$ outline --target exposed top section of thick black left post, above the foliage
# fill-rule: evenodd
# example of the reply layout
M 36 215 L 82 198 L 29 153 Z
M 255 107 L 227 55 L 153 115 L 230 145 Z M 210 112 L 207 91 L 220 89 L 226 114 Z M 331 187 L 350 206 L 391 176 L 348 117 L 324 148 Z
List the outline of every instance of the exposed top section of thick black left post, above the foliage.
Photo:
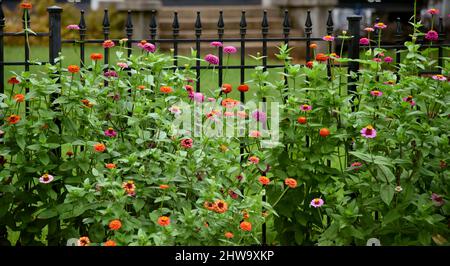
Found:
M 47 8 L 49 15 L 49 61 L 50 64 L 55 64 L 55 59 L 61 52 L 61 12 L 62 8 L 59 6 L 51 6 Z

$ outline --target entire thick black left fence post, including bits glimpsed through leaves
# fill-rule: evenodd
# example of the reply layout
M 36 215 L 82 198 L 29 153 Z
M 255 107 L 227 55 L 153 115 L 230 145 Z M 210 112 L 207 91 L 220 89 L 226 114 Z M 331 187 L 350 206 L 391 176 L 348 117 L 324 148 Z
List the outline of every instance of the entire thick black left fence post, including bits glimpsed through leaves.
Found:
M 61 52 L 61 12 L 62 8 L 58 6 L 51 6 L 47 8 L 49 15 L 49 62 L 50 64 L 56 64 L 56 58 L 59 57 Z M 58 81 L 59 82 L 59 81 Z M 52 101 L 56 95 L 52 95 Z M 55 120 L 55 124 L 58 126 L 60 134 L 62 134 L 61 121 Z M 61 158 L 61 148 L 56 148 L 52 151 L 56 158 Z M 54 186 L 53 189 L 57 194 L 61 190 L 60 186 Z M 47 241 L 49 246 L 59 246 L 61 237 L 61 224 L 56 220 L 52 220 L 48 225 Z

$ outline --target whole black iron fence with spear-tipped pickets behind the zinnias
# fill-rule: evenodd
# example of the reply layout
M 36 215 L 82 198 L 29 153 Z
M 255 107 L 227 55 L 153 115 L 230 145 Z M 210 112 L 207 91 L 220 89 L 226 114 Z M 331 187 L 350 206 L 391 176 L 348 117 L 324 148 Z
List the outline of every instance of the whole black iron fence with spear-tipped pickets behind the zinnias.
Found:
M 10 37 L 17 37 L 17 38 L 42 38 L 42 37 L 48 37 L 48 51 L 49 51 L 49 59 L 48 62 L 39 62 L 40 64 L 50 63 L 55 64 L 56 58 L 59 56 L 61 52 L 61 48 L 63 44 L 78 44 L 80 47 L 80 65 L 84 65 L 85 63 L 85 52 L 86 52 L 86 45 L 87 44 L 101 44 L 105 40 L 110 39 L 110 19 L 108 10 L 106 9 L 103 14 L 103 39 L 89 39 L 86 38 L 87 36 L 87 25 L 85 22 L 84 17 L 84 11 L 80 12 L 80 22 L 78 24 L 79 26 L 79 36 L 78 39 L 66 39 L 63 40 L 61 36 L 61 15 L 63 13 L 63 9 L 57 6 L 52 6 L 48 8 L 48 18 L 49 18 L 49 30 L 48 32 L 37 32 L 37 33 L 29 33 L 27 34 L 26 29 L 30 29 L 31 21 L 30 14 L 27 9 L 24 9 L 23 11 L 23 31 L 22 32 L 5 32 L 5 17 L 2 10 L 2 4 L 0 2 L 0 93 L 4 93 L 4 85 L 5 85 L 5 66 L 24 66 L 25 71 L 30 70 L 30 66 L 33 64 L 36 64 L 36 62 L 30 61 L 30 47 L 28 46 L 28 43 L 24 42 L 24 58 L 25 60 L 17 61 L 17 62 L 5 62 L 4 61 L 4 54 L 5 54 L 5 45 L 4 45 L 4 37 L 10 36 Z M 201 14 L 200 12 L 197 12 L 197 17 L 194 23 L 194 31 L 192 33 L 192 38 L 179 38 L 180 33 L 180 24 L 178 20 L 178 14 L 177 12 L 174 12 L 173 15 L 173 23 L 172 23 L 172 38 L 158 38 L 158 23 L 156 19 L 156 11 L 152 12 L 152 17 L 149 22 L 149 39 L 146 41 L 153 43 L 153 44 L 171 44 L 173 47 L 173 59 L 174 59 L 174 66 L 173 68 L 184 68 L 184 66 L 179 66 L 178 62 L 178 53 L 179 53 L 179 44 L 182 43 L 192 43 L 195 45 L 196 57 L 197 59 L 200 59 L 201 56 L 201 44 L 205 42 L 212 42 L 212 41 L 220 41 L 223 43 L 240 43 L 240 63 L 239 65 L 230 65 L 230 66 L 223 66 L 222 65 L 222 59 L 223 59 L 223 51 L 219 49 L 219 65 L 217 66 L 218 69 L 218 86 L 222 86 L 223 82 L 223 70 L 226 69 L 238 69 L 240 70 L 239 79 L 241 84 L 245 83 L 245 70 L 246 69 L 253 69 L 256 67 L 256 65 L 250 65 L 246 63 L 246 44 L 251 42 L 258 42 L 261 44 L 261 56 L 263 56 L 263 59 L 261 61 L 262 67 L 264 71 L 266 71 L 269 68 L 284 68 L 284 64 L 270 64 L 268 62 L 268 44 L 269 43 L 284 43 L 289 45 L 292 42 L 300 42 L 304 44 L 304 51 L 305 51 L 305 60 L 306 62 L 312 60 L 312 50 L 310 48 L 311 43 L 313 42 L 324 42 L 322 39 L 322 35 L 333 35 L 334 33 L 334 23 L 331 16 L 332 11 L 330 10 L 328 13 L 328 18 L 326 21 L 326 32 L 324 33 L 317 33 L 319 34 L 319 37 L 313 36 L 313 25 L 311 20 L 311 14 L 308 11 L 306 14 L 306 20 L 304 25 L 304 36 L 292 36 L 290 34 L 291 31 L 291 22 L 289 19 L 289 13 L 288 11 L 284 12 L 284 19 L 283 19 L 283 27 L 282 31 L 280 32 L 280 37 L 269 37 L 269 17 L 267 15 L 267 12 L 264 11 L 262 14 L 261 19 L 261 37 L 259 38 L 249 38 L 247 37 L 247 22 L 246 22 L 246 12 L 242 11 L 241 14 L 241 20 L 239 25 L 239 33 L 240 37 L 238 38 L 227 38 L 225 37 L 225 24 L 224 24 L 224 18 L 222 11 L 219 11 L 218 13 L 218 23 L 217 23 L 217 38 L 202 38 L 202 22 L 201 22 Z M 141 40 L 133 39 L 133 21 L 131 16 L 131 11 L 128 11 L 126 24 L 124 27 L 124 38 L 126 38 L 126 46 L 130 49 L 128 49 L 128 56 L 132 53 L 132 47 L 133 44 L 139 43 Z M 359 59 L 360 53 L 361 53 L 361 47 L 360 47 L 360 37 L 361 37 L 361 16 L 350 16 L 347 18 L 348 20 L 348 30 L 347 35 L 352 36 L 351 40 L 348 42 L 346 53 L 349 58 L 351 59 Z M 378 22 L 375 21 L 375 23 Z M 438 65 L 440 67 L 443 66 L 443 51 L 444 47 L 449 46 L 448 43 L 444 43 L 447 34 L 444 32 L 444 23 L 443 18 L 438 19 L 437 23 L 437 32 L 439 33 L 439 39 L 436 42 L 433 42 L 433 44 L 428 43 L 424 39 L 418 40 L 418 43 L 424 44 L 423 47 L 434 47 L 438 50 Z M 378 30 L 375 30 L 374 32 L 374 38 L 378 38 Z M 396 23 L 396 44 L 390 44 L 390 45 L 381 45 L 382 48 L 389 49 L 389 50 L 395 50 L 395 63 L 400 64 L 401 62 L 401 53 L 399 53 L 399 50 L 404 49 L 403 42 L 405 41 L 403 39 L 404 34 L 402 32 L 401 23 L 400 20 L 397 20 Z M 120 39 L 112 39 L 114 42 L 118 43 Z M 327 43 L 328 47 L 331 48 L 332 43 Z M 298 49 L 301 49 L 302 47 L 297 47 Z M 109 48 L 104 49 L 104 63 L 108 64 L 110 60 L 109 56 Z M 331 64 L 332 61 L 328 60 L 328 76 L 331 76 Z M 355 61 L 350 61 L 347 65 L 340 65 L 340 67 L 346 67 L 348 68 L 348 72 L 357 72 L 359 69 L 359 63 Z M 202 66 L 200 64 L 200 60 L 196 61 L 195 70 L 196 70 L 196 91 L 200 91 L 200 73 L 202 70 L 207 69 L 208 66 Z M 284 70 L 286 71 L 286 69 Z M 432 73 L 439 73 L 434 71 L 423 71 L 423 74 L 432 74 Z M 348 82 L 348 91 L 355 92 L 356 91 L 356 85 L 355 81 L 357 81 L 357 77 L 350 77 Z M 287 78 L 285 79 L 285 83 L 287 84 Z M 245 102 L 245 94 L 244 92 L 240 93 L 240 100 L 241 102 Z M 263 101 L 266 99 L 263 98 Z M 308 143 L 308 139 L 307 139 Z M 241 154 L 243 153 L 244 147 L 241 144 Z M 263 201 L 265 201 L 265 196 L 263 197 Z M 262 243 L 266 243 L 266 226 L 263 224 L 262 228 Z

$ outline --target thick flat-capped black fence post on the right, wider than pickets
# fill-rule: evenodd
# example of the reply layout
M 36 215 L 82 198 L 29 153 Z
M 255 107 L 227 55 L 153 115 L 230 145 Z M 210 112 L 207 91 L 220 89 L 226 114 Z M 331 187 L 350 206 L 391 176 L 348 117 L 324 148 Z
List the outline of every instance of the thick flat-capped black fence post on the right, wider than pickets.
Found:
M 352 39 L 350 40 L 350 43 L 348 45 L 348 58 L 350 59 L 359 59 L 359 39 L 361 37 L 360 31 L 361 31 L 361 16 L 350 16 L 347 17 L 348 20 L 348 32 L 350 36 L 352 36 Z M 351 72 L 357 73 L 359 70 L 359 63 L 358 62 L 349 62 L 348 63 L 348 73 Z M 358 78 L 348 78 L 348 86 L 347 86 L 347 93 L 354 94 L 356 93 L 356 82 Z M 354 111 L 354 105 L 353 105 L 353 99 L 352 98 L 352 110 Z

